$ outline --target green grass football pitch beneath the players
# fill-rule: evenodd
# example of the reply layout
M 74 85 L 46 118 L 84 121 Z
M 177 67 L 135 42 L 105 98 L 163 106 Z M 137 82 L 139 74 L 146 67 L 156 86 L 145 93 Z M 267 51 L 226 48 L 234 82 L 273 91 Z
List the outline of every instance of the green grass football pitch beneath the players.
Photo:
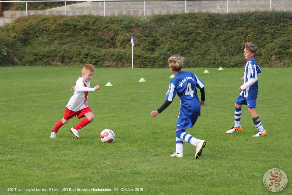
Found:
M 252 137 L 256 129 L 246 106 L 243 130 L 225 133 L 234 124 L 243 68 L 217 69 L 183 69 L 206 84 L 201 117 L 187 129 L 207 141 L 196 160 L 189 143 L 184 144 L 183 158 L 169 156 L 175 152 L 178 97 L 156 118 L 150 115 L 165 101 L 169 69 L 97 68 L 91 87 L 101 87 L 88 95 L 95 120 L 82 129 L 80 139 L 69 132 L 80 121 L 76 117 L 51 139 L 81 67 L 0 68 L 0 194 L 272 194 L 262 182 L 267 170 L 280 168 L 292 178 L 292 69 L 262 68 L 256 111 L 267 136 L 259 138 Z M 146 82 L 139 83 L 140 78 Z M 105 87 L 107 82 L 113 87 Z M 100 141 L 103 129 L 114 131 L 113 143 Z M 279 194 L 291 191 L 290 179 Z

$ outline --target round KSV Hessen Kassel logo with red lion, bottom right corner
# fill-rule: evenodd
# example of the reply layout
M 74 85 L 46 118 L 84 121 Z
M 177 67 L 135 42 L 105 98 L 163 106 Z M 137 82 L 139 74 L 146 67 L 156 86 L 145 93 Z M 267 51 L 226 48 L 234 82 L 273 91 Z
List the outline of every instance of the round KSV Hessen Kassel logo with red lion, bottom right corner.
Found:
M 269 191 L 282 191 L 288 184 L 288 177 L 283 170 L 272 168 L 265 172 L 263 184 Z

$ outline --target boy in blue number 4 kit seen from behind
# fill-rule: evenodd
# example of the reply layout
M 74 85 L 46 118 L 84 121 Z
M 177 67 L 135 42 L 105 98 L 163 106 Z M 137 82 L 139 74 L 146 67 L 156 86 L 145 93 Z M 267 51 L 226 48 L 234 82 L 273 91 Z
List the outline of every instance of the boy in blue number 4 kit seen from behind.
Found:
M 183 57 L 175 55 L 168 59 L 169 68 L 175 77 L 169 83 L 166 101 L 158 110 L 152 111 L 151 115 L 156 117 L 171 104 L 175 95 L 178 94 L 180 113 L 176 123 L 176 150 L 170 156 L 183 157 L 183 142 L 187 141 L 196 146 L 195 158 L 199 158 L 206 146 L 206 141 L 191 136 L 185 132 L 185 129 L 192 128 L 201 115 L 201 105 L 205 104 L 205 84 L 194 73 L 181 71 L 183 59 Z M 198 98 L 197 88 L 201 91 L 201 100 Z

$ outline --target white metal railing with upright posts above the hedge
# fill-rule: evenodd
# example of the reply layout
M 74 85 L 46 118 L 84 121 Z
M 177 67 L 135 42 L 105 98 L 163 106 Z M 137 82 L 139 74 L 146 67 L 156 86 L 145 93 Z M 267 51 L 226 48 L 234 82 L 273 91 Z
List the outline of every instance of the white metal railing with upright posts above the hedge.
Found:
M 105 16 L 105 1 L 144 1 L 144 16 L 146 16 L 146 0 L 57 0 L 57 1 L 0 1 L 0 3 L 12 3 L 12 2 L 25 2 L 25 15 L 27 16 L 27 2 L 65 2 L 65 16 L 66 16 L 66 2 L 68 1 L 103 1 L 104 2 L 104 16 Z M 230 0 L 227 0 L 227 13 L 228 4 Z M 272 0 L 270 0 L 270 11 L 272 9 Z M 185 0 L 185 13 L 187 13 L 187 0 Z

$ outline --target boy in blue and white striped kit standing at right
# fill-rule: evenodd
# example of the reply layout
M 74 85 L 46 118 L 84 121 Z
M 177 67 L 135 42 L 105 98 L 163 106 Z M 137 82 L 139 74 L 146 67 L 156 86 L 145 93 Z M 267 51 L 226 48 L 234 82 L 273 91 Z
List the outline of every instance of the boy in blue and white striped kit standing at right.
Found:
M 251 114 L 253 123 L 256 126 L 257 131 L 253 137 L 260 137 L 267 135 L 267 132 L 263 128 L 260 118 L 256 113 L 256 98 L 258 96 L 258 75 L 262 72 L 260 67 L 256 64 L 256 60 L 253 58 L 256 54 L 258 48 L 256 45 L 247 42 L 244 48 L 244 57 L 247 60 L 246 66 L 244 68 L 244 77 L 241 78 L 241 81 L 244 81 L 244 84 L 239 87 L 239 95 L 235 102 L 235 112 L 234 112 L 234 126 L 226 131 L 227 134 L 233 134 L 236 131 L 241 131 L 240 126 L 241 119 L 241 106 L 247 105 L 248 112 Z

